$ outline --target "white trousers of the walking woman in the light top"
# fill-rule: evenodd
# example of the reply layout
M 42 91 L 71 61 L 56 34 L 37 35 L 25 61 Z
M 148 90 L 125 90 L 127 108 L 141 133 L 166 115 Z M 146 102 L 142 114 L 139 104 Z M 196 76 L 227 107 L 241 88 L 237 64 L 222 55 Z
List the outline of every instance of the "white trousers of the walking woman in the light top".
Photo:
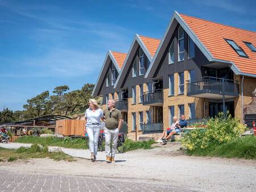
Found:
M 100 135 L 100 124 L 92 124 L 86 126 L 86 132 L 89 136 L 89 148 L 93 155 L 97 155 L 98 151 L 98 136 Z

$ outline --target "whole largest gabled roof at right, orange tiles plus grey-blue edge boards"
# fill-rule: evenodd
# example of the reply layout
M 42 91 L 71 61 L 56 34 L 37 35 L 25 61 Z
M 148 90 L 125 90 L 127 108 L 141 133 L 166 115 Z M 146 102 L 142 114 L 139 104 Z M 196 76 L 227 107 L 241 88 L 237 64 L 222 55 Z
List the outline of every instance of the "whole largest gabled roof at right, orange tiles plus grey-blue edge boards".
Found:
M 160 49 L 166 48 L 167 42 L 165 41 L 168 39 L 166 37 L 168 33 L 173 31 L 172 27 L 177 23 L 183 27 L 209 61 L 226 63 L 235 74 L 256 77 L 256 52 L 251 51 L 243 42 L 246 41 L 256 46 L 256 32 L 194 18 L 179 14 L 176 11 L 156 51 L 151 68 L 145 74 L 145 77 L 154 76 L 156 65 L 159 64 L 159 57 L 162 57 L 158 53 Z M 249 58 L 240 57 L 225 39 L 234 40 L 246 52 Z M 156 60 L 158 64 L 156 64 Z

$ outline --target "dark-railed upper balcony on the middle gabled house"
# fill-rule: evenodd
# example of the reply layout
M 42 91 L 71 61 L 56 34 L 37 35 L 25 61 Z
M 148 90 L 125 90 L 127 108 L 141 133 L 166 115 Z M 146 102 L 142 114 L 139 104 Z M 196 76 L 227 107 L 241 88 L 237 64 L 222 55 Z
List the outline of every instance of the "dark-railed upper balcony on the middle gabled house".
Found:
M 163 89 L 157 89 L 152 92 L 144 92 L 143 105 L 163 106 Z

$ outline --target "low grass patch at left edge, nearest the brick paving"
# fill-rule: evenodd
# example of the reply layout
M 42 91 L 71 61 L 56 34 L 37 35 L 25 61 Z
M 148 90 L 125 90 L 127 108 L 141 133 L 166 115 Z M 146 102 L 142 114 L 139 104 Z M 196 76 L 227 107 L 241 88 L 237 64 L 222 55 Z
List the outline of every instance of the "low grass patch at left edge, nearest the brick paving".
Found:
M 73 157 L 66 155 L 63 152 L 48 152 L 47 147 L 39 147 L 38 144 L 32 145 L 30 148 L 20 147 L 19 149 L 0 148 L 0 161 L 16 161 L 27 160 L 29 158 L 52 158 L 60 161 L 73 161 Z

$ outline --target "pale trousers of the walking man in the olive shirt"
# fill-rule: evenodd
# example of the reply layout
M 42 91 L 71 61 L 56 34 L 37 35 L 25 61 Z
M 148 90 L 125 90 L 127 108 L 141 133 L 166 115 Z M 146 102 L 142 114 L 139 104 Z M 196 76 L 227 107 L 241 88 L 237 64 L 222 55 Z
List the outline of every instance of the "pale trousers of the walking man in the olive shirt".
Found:
M 104 128 L 105 132 L 105 151 L 106 156 L 114 157 L 115 156 L 115 150 L 117 149 L 117 140 L 118 140 L 118 128 L 115 128 L 114 130 L 109 130 L 108 128 Z M 110 149 L 110 142 L 112 140 L 112 150 Z M 112 154 L 111 154 L 112 152 Z

